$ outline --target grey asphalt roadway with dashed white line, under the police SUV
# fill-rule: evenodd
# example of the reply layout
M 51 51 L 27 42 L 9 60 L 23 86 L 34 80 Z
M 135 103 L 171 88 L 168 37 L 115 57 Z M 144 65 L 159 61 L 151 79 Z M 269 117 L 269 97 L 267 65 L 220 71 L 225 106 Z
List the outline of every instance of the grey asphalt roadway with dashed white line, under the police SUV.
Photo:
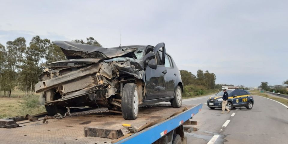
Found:
M 199 130 L 185 132 L 188 144 L 288 143 L 287 106 L 253 95 L 255 104 L 251 110 L 241 107 L 220 114 L 220 108 L 207 107 L 210 96 L 183 100 L 183 104 L 203 104 L 202 110 L 191 119 L 198 122 L 195 127 Z

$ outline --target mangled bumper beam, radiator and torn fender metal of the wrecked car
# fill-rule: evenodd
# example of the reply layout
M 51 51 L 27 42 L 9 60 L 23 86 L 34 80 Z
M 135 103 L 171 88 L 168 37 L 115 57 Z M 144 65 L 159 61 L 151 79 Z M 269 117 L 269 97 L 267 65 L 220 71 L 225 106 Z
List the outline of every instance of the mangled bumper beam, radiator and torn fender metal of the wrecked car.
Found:
M 52 69 L 46 68 L 42 72 L 41 81 L 35 85 L 35 92 L 47 93 L 49 90 L 55 89 L 61 94 L 61 98 L 58 99 L 46 98 L 46 104 L 63 102 L 83 95 L 88 95 L 91 101 L 103 101 L 118 91 L 117 78 L 120 75 L 142 79 L 143 73 L 143 70 L 135 69 L 130 61 L 92 63 L 79 69 L 76 66 L 62 65 L 62 67 Z M 43 79 L 43 77 L 45 78 Z

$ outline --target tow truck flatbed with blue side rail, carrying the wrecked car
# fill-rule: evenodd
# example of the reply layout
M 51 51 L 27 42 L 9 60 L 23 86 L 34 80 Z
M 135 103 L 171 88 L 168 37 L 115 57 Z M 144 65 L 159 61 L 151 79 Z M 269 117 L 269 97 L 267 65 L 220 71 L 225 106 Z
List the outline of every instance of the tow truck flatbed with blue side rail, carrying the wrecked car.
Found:
M 84 116 L 46 119 L 43 122 L 41 118 L 33 122 L 18 121 L 15 128 L 0 128 L 0 143 L 185 144 L 187 139 L 184 136 L 183 125 L 189 123 L 201 108 L 202 104 L 182 105 L 180 108 L 173 108 L 170 104 L 142 106 L 136 120 L 124 120 L 119 113 L 101 111 Z

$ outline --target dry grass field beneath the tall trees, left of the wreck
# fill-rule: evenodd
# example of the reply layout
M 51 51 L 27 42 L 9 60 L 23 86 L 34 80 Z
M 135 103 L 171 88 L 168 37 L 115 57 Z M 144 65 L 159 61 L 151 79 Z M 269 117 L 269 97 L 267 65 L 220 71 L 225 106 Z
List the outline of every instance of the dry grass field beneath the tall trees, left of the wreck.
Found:
M 45 107 L 39 105 L 38 95 L 30 98 L 0 98 L 0 118 L 34 115 L 46 112 Z

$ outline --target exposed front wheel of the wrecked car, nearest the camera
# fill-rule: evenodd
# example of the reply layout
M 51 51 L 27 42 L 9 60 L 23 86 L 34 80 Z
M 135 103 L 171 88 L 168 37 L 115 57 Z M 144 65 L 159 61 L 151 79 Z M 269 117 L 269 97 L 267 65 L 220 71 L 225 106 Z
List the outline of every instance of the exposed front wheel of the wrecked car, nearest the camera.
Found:
M 139 97 L 136 84 L 127 83 L 124 85 L 121 100 L 123 118 L 126 120 L 137 119 L 139 111 Z

